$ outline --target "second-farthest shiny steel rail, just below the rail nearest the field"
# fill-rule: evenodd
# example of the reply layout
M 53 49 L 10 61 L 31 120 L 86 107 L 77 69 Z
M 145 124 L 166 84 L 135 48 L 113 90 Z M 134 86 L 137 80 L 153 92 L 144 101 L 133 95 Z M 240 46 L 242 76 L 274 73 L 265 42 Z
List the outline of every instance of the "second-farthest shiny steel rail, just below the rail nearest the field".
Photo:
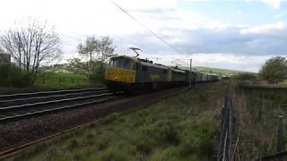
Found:
M 83 91 L 81 93 L 68 93 L 68 94 L 59 94 L 59 95 L 51 95 L 51 96 L 44 96 L 44 97 L 27 97 L 27 98 L 16 98 L 16 99 L 8 99 L 8 100 L 0 100 L 0 104 L 6 104 L 10 102 L 17 102 L 17 101 L 28 101 L 33 99 L 46 99 L 46 98 L 53 98 L 53 97 L 68 97 L 68 96 L 76 96 L 76 95 L 83 95 L 83 94 L 91 94 L 100 91 L 108 91 L 108 89 L 99 89 L 95 91 Z

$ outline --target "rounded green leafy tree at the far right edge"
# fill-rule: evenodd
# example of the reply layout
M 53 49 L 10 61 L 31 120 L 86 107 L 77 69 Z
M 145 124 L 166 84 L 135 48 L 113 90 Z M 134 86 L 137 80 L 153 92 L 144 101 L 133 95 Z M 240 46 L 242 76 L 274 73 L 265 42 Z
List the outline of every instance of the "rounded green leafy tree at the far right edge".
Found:
M 259 77 L 270 83 L 278 83 L 286 79 L 287 59 L 282 56 L 273 57 L 265 62 L 259 71 Z

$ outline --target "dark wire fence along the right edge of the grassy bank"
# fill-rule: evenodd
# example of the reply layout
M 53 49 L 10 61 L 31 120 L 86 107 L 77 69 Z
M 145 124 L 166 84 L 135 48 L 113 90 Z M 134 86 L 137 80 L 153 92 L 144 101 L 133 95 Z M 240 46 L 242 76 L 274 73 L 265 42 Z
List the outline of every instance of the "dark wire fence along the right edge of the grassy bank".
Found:
M 230 97 L 229 87 L 225 89 L 224 102 L 222 105 L 222 129 L 217 153 L 218 161 L 226 161 L 229 158 L 230 148 Z

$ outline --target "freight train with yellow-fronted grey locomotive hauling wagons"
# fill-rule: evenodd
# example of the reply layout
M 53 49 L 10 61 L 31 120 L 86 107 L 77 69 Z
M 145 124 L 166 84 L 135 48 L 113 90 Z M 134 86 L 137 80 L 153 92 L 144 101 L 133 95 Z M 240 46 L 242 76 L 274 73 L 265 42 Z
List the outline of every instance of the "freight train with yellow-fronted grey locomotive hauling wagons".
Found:
M 126 55 L 114 56 L 109 60 L 105 80 L 111 92 L 166 89 L 192 84 L 217 81 L 219 77 L 201 72 L 189 72 L 162 64 L 153 64 L 146 59 Z

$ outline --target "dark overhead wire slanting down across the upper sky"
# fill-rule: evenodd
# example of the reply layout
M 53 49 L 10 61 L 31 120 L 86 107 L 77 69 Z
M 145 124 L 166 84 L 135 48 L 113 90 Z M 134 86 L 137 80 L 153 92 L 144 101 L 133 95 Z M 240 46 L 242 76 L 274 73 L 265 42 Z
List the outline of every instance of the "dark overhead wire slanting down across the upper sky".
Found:
M 165 39 L 161 38 L 159 35 L 157 35 L 154 31 L 152 31 L 150 28 L 148 28 L 147 26 L 145 26 L 141 21 L 138 21 L 132 14 L 128 13 L 123 7 L 121 7 L 119 4 L 117 4 L 115 1 L 110 0 L 110 2 L 112 4 L 114 4 L 115 6 L 117 6 L 117 8 L 119 10 L 121 10 L 123 13 L 126 13 L 126 15 L 128 15 L 131 19 L 133 19 L 134 21 L 136 21 L 137 23 L 139 23 L 145 30 L 148 30 L 152 36 L 159 38 L 164 44 L 166 44 L 168 47 L 172 48 L 173 50 L 177 51 L 178 53 L 181 53 L 177 48 L 172 47 L 172 45 L 170 45 L 169 42 L 167 42 Z

